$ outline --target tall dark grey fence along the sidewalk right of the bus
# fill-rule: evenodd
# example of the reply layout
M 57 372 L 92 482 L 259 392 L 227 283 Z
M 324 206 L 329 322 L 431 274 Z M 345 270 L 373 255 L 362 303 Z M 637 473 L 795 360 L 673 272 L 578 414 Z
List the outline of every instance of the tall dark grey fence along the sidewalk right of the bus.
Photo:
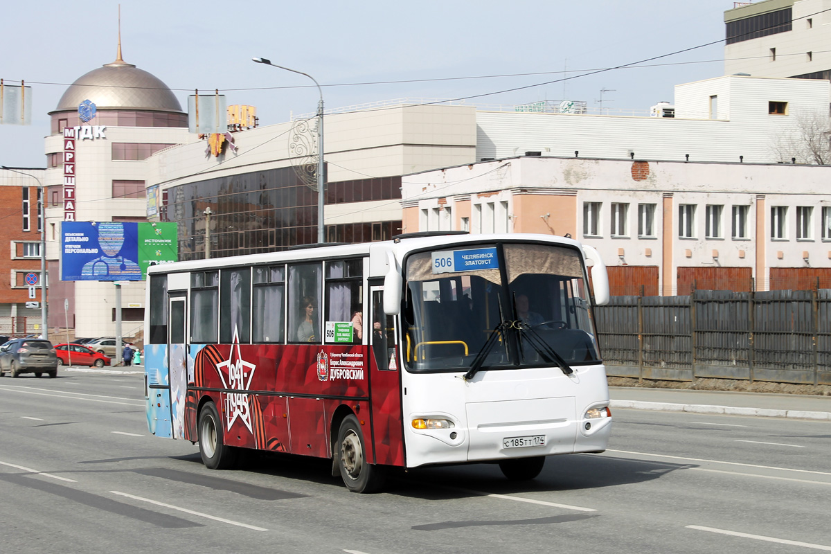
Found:
M 831 289 L 612 297 L 595 316 L 608 375 L 831 385 Z

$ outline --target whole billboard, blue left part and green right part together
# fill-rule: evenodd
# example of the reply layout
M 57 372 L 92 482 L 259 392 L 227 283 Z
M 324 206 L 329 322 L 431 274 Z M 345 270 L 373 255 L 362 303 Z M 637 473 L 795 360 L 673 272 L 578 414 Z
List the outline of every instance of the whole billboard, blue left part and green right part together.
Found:
M 61 225 L 61 281 L 143 281 L 147 267 L 179 257 L 176 223 Z

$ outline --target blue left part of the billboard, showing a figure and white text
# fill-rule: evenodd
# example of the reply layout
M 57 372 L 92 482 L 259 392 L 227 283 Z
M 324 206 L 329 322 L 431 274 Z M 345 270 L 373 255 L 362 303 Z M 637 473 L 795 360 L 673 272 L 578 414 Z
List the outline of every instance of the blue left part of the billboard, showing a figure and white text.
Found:
M 138 223 L 61 223 L 61 281 L 141 281 Z

